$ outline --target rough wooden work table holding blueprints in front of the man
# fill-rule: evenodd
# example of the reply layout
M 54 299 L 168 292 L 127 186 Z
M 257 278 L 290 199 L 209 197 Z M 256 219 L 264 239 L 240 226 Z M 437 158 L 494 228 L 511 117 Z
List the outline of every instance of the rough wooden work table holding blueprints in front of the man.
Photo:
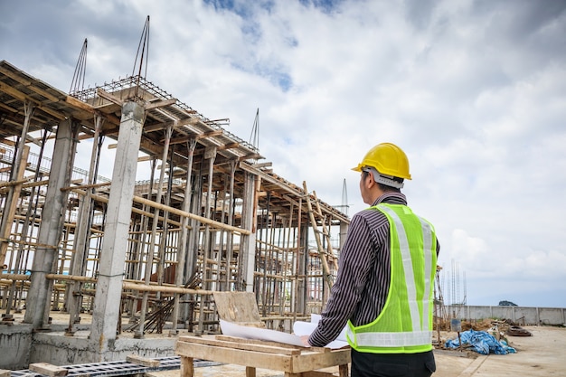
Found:
M 348 376 L 350 348 L 299 347 L 225 335 L 179 336 L 175 353 L 181 356 L 181 376 L 193 377 L 193 359 L 231 363 L 246 367 L 255 377 L 256 368 L 285 372 L 285 377 L 330 377 L 316 370 L 338 366 L 340 377 Z

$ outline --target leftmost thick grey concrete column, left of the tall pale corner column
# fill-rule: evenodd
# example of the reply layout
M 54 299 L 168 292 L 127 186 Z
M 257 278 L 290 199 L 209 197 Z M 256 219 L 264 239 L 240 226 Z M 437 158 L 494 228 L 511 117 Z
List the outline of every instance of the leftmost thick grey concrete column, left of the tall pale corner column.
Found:
M 77 147 L 75 131 L 71 119 L 66 119 L 57 127 L 57 137 L 53 149 L 52 169 L 45 194 L 42 222 L 39 229 L 32 266 L 32 285 L 26 300 L 24 322 L 33 324 L 34 329 L 47 324 L 52 281 L 45 278 L 52 270 L 59 250 L 59 242 L 67 208 L 67 193 L 62 187 L 71 184 L 71 172 Z

